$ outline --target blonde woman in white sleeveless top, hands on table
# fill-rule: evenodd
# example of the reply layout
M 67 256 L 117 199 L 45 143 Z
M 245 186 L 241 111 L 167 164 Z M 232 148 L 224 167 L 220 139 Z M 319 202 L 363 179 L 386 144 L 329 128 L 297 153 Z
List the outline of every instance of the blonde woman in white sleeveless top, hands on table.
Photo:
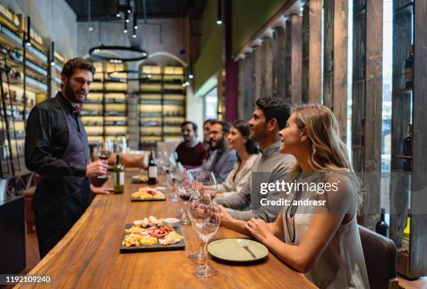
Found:
M 360 182 L 334 114 L 322 105 L 296 107 L 279 134 L 280 153 L 297 159 L 295 182 L 324 181 L 336 190 L 290 192 L 290 205 L 283 207 L 275 223 L 250 219 L 246 230 L 320 288 L 369 288 L 356 220 Z M 303 199 L 324 203 L 294 205 Z

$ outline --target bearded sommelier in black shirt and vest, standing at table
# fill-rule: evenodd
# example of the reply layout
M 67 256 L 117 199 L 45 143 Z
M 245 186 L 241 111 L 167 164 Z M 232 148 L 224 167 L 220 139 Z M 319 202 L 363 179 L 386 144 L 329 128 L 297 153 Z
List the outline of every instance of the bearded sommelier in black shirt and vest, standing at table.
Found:
M 25 164 L 42 178 L 32 203 L 40 258 L 80 218 L 92 193 L 109 191 L 91 188 L 90 178 L 107 173 L 107 162 L 89 164 L 87 134 L 80 120 L 80 105 L 94 72 L 89 61 L 70 59 L 61 72 L 61 91 L 37 104 L 27 120 Z

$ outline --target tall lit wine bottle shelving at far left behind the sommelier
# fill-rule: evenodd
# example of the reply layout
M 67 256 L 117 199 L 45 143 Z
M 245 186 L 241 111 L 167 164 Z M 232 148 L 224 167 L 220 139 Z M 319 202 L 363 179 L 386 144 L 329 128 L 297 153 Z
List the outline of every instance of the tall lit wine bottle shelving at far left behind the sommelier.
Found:
M 31 46 L 24 45 L 27 27 L 22 19 L 25 19 L 22 15 L 10 13 L 4 7 L 1 9 L 0 65 L 6 72 L 1 73 L 0 174 L 1 178 L 13 179 L 10 183 L 15 187 L 10 187 L 9 191 L 15 192 L 24 189 L 19 180 L 31 174 L 24 164 L 25 123 L 36 100 L 47 95 L 49 79 L 47 49 L 40 45 L 36 33 L 31 35 Z

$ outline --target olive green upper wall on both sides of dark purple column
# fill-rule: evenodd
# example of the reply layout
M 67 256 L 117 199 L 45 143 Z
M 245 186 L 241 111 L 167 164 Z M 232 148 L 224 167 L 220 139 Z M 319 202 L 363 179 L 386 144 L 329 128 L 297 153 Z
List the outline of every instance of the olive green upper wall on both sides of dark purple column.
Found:
M 230 1 L 230 0 L 223 0 Z M 288 0 L 232 0 L 232 54 L 236 56 Z M 223 26 L 216 25 L 217 0 L 207 0 L 201 21 L 200 56 L 194 66 L 197 92 L 223 68 Z

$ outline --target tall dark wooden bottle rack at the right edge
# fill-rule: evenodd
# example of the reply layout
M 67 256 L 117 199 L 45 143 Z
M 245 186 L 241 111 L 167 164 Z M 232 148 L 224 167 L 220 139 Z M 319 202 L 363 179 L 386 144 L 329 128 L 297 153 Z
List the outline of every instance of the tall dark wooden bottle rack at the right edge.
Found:
M 423 113 L 427 75 L 426 6 L 425 1 L 407 0 L 394 0 L 393 5 L 390 237 L 398 248 L 397 271 L 410 279 L 427 274 L 424 261 L 427 203 L 423 194 L 427 169 Z M 413 136 L 409 131 L 413 131 Z

